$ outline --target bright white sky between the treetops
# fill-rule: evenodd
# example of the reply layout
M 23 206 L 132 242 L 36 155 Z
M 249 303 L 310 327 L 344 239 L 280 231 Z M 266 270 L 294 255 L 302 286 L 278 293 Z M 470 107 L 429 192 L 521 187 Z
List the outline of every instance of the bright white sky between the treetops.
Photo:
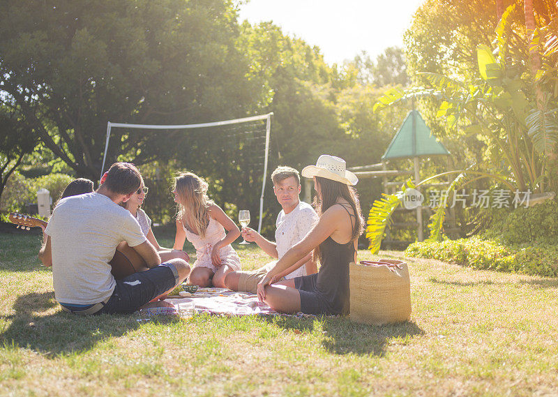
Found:
M 240 20 L 273 21 L 284 33 L 317 45 L 328 63 L 342 63 L 365 50 L 372 59 L 386 47 L 403 45 L 424 0 L 250 0 Z

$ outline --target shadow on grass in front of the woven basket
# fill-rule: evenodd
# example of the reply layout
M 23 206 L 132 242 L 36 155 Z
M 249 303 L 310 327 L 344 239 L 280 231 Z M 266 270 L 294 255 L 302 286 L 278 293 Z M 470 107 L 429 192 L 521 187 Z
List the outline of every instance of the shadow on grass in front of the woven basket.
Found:
M 334 354 L 372 354 L 382 357 L 388 345 L 404 345 L 412 338 L 425 334 L 414 322 L 368 325 L 352 322 L 349 317 L 299 319 L 286 316 L 273 317 L 268 321 L 296 332 L 320 331 L 322 346 Z

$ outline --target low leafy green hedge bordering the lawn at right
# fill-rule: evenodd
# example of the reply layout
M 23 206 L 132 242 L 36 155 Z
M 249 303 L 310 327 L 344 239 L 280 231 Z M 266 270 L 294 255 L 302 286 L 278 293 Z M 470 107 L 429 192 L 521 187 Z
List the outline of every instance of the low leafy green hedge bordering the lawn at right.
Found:
M 545 277 L 558 276 L 558 246 L 534 243 L 505 245 L 480 237 L 414 243 L 405 254 L 442 260 L 474 269 L 511 271 Z

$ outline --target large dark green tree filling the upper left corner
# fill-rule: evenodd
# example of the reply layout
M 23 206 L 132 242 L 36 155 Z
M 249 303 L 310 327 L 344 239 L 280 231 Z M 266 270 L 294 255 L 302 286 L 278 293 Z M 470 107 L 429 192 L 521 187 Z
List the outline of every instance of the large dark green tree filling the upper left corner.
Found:
M 0 84 L 45 147 L 98 178 L 107 121 L 195 123 L 246 114 L 230 0 L 3 1 Z M 172 137 L 114 130 L 108 153 L 137 164 L 179 153 Z

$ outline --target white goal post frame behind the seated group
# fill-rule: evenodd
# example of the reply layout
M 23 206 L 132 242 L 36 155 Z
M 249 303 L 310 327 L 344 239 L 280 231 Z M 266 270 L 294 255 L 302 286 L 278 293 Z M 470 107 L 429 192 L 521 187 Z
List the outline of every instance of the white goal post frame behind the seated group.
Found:
M 243 117 L 242 119 L 230 119 L 223 121 L 214 121 L 212 123 L 199 123 L 199 124 L 184 124 L 184 125 L 159 125 L 159 124 L 130 124 L 130 123 L 112 123 L 107 121 L 107 139 L 105 141 L 105 153 L 103 153 L 103 165 L 100 170 L 100 178 L 103 177 L 105 172 L 105 162 L 107 160 L 107 151 L 109 148 L 110 132 L 112 128 L 137 128 L 142 130 L 190 130 L 194 128 L 207 128 L 227 126 L 229 124 L 247 123 L 250 121 L 265 120 L 266 121 L 266 135 L 265 135 L 265 153 L 264 153 L 264 176 L 262 178 L 262 193 L 259 196 L 259 220 L 257 232 L 262 231 L 262 218 L 264 214 L 264 193 L 266 188 L 267 179 L 267 163 L 269 160 L 269 136 L 271 135 L 271 116 L 273 112 L 262 114 L 259 116 Z

